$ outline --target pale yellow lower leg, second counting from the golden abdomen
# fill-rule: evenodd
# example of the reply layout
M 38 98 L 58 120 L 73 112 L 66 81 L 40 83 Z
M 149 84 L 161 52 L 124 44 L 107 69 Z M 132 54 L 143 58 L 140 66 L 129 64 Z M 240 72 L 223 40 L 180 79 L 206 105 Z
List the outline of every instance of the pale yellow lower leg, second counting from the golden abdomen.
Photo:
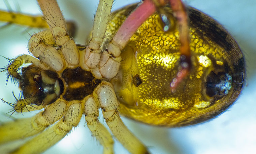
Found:
M 88 128 L 91 130 L 93 136 L 96 137 L 97 141 L 103 146 L 103 154 L 113 154 L 114 141 L 112 136 L 106 127 L 98 120 L 98 103 L 95 102 L 91 95 L 85 98 L 85 100 L 85 120 Z

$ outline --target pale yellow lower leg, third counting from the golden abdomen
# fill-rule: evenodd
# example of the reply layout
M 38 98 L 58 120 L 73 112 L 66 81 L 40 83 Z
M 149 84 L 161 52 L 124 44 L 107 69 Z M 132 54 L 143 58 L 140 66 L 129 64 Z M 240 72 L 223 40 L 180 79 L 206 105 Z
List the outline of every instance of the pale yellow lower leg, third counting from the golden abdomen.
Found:
M 55 145 L 62 138 L 76 127 L 83 115 L 83 107 L 78 101 L 71 104 L 65 112 L 64 118 L 59 120 L 52 127 L 47 128 L 23 146 L 19 147 L 12 154 L 38 154 Z

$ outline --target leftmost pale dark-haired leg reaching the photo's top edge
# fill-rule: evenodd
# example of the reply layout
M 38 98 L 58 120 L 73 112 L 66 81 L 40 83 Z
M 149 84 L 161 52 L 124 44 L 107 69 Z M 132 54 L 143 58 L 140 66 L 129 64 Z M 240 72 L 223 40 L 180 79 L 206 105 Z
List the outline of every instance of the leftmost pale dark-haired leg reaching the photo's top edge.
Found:
M 38 4 L 68 67 L 77 67 L 79 64 L 79 52 L 75 42 L 70 39 L 66 22 L 56 0 L 38 0 Z M 54 49 L 51 49 L 51 52 L 55 53 Z M 46 51 L 44 50 L 44 52 Z M 52 56 L 54 57 L 55 55 Z

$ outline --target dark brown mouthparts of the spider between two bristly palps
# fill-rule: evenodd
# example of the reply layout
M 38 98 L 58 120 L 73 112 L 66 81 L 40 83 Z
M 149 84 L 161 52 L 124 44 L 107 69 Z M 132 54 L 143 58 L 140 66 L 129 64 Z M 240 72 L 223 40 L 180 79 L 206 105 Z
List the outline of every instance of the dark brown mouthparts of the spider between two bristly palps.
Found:
M 22 69 L 20 88 L 23 97 L 34 98 L 36 105 L 54 103 L 63 92 L 64 86 L 57 73 L 42 70 L 34 65 Z

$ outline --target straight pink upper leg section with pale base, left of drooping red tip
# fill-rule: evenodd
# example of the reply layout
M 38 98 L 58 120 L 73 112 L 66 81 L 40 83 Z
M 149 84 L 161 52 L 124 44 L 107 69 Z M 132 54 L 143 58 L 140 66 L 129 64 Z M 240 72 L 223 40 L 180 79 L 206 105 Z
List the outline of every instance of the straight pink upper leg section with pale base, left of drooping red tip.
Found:
M 113 39 L 107 45 L 107 49 L 101 54 L 98 69 L 102 77 L 110 79 L 116 76 L 122 60 L 120 56 L 121 50 L 138 27 L 145 22 L 155 10 L 154 3 L 151 2 L 151 0 L 145 0 L 127 17 Z

